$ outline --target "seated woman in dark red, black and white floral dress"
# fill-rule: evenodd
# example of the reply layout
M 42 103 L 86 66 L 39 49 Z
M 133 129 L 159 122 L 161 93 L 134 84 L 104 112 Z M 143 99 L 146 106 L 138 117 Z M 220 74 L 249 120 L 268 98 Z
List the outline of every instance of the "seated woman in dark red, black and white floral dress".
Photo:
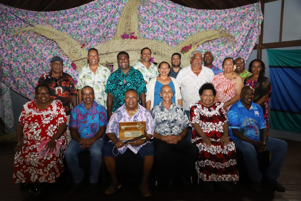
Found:
M 235 146 L 228 136 L 228 118 L 223 104 L 214 102 L 216 91 L 211 83 L 199 90 L 201 100 L 192 104 L 189 112 L 192 126 L 191 142 L 200 150 L 195 163 L 197 174 L 206 181 L 205 191 L 213 191 L 213 182 L 231 191 L 229 182 L 238 181 Z M 209 181 L 209 182 L 208 182 Z

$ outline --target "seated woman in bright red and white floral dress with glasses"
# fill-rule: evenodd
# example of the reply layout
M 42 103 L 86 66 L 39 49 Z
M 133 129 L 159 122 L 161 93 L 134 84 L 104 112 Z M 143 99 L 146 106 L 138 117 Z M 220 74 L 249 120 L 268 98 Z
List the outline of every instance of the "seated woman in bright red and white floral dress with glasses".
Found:
M 24 105 L 17 125 L 13 181 L 39 183 L 29 189 L 39 194 L 46 183 L 55 182 L 64 170 L 67 117 L 61 101 L 50 98 L 48 86 L 39 85 L 35 91 L 36 100 Z M 48 153 L 39 159 L 37 148 L 45 140 L 50 140 L 46 151 L 59 149 L 58 157 Z

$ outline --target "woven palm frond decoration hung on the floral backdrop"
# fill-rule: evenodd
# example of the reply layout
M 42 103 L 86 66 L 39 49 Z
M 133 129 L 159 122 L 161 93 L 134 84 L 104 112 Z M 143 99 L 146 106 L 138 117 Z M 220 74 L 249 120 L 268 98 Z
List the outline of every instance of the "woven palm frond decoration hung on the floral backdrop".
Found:
M 140 51 L 144 47 L 148 47 L 152 51 L 152 56 L 157 63 L 161 61 L 170 61 L 171 55 L 174 52 L 180 52 L 184 46 L 191 46 L 189 51 L 182 52 L 182 66 L 190 64 L 190 54 L 197 49 L 197 44 L 202 44 L 205 41 L 214 40 L 218 38 L 226 38 L 233 42 L 233 37 L 223 30 L 206 30 L 195 33 L 179 43 L 177 46 L 172 47 L 163 42 L 140 38 L 137 39 L 122 39 L 121 35 L 124 33 L 139 33 L 138 30 L 138 5 L 139 0 L 129 0 L 124 6 L 119 17 L 116 34 L 113 39 L 100 43 L 95 48 L 100 53 L 100 63 L 113 63 L 114 70 L 118 68 L 117 53 L 126 51 L 130 56 L 130 63 L 135 64 L 140 59 Z M 61 50 L 76 64 L 76 70 L 80 69 L 87 64 L 88 51 L 81 48 L 81 45 L 66 33 L 62 33 L 52 27 L 33 25 L 33 27 L 24 27 L 18 30 L 14 35 L 20 33 L 35 32 L 48 39 L 54 40 Z M 123 49 L 121 49 L 123 48 Z

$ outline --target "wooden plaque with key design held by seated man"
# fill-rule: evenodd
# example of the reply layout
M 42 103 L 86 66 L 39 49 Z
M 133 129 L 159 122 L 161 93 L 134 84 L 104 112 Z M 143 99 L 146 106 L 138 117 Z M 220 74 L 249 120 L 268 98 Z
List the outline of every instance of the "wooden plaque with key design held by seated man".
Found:
M 119 140 L 130 140 L 144 134 L 145 121 L 119 122 Z M 145 139 L 141 138 L 141 139 Z

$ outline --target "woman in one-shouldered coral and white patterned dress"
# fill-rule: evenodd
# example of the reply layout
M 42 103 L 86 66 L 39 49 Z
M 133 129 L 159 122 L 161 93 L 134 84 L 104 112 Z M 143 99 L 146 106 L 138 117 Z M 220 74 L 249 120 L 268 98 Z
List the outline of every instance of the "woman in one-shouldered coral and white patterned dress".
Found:
M 227 57 L 223 61 L 223 73 L 213 77 L 212 84 L 216 89 L 214 101 L 224 104 L 226 111 L 239 99 L 244 83 L 239 74 L 234 73 L 234 60 Z

